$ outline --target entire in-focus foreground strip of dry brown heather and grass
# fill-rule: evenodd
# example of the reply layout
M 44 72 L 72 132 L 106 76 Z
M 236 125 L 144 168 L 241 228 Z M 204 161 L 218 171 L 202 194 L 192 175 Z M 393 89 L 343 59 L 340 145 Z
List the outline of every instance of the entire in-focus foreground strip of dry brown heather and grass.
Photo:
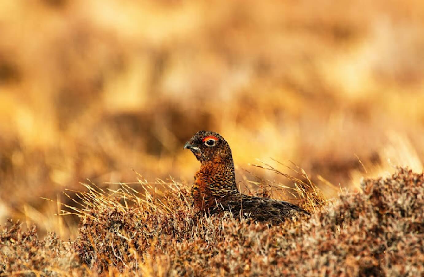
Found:
M 398 169 L 387 179 L 364 180 L 363 193 L 344 191 L 312 216 L 276 226 L 231 213 L 199 216 L 184 186 L 162 185 L 161 195 L 143 196 L 125 185 L 109 193 L 86 185 L 78 194 L 81 208 L 67 209 L 81 217 L 72 243 L 54 235 L 40 241 L 18 223 L 3 227 L 0 273 L 418 276 L 424 270 L 422 173 Z

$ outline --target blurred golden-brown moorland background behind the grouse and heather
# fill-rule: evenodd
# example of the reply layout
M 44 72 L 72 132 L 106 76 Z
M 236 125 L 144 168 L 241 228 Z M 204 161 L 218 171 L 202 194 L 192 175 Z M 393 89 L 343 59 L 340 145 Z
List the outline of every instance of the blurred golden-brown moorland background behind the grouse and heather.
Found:
M 198 130 L 245 186 L 290 185 L 257 159 L 327 197 L 422 170 L 423 34 L 422 0 L 0 1 L 0 222 L 74 237 L 56 200 L 86 178 L 190 185 Z

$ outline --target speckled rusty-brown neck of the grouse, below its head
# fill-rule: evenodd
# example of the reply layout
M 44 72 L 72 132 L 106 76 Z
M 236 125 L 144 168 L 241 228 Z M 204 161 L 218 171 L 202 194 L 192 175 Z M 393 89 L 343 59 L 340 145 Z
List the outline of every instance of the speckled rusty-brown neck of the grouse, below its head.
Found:
M 234 162 L 231 157 L 219 162 L 205 161 L 202 163 L 199 173 L 203 175 L 204 180 L 207 180 L 207 186 L 215 197 L 239 194 Z

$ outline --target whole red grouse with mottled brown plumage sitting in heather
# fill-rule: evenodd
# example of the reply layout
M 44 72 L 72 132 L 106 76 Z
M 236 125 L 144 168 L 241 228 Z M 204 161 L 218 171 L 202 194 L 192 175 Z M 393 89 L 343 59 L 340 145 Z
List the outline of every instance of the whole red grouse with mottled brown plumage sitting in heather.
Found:
M 285 201 L 241 194 L 236 186 L 234 163 L 227 141 L 218 133 L 199 131 L 184 145 L 201 167 L 194 176 L 193 205 L 211 214 L 232 211 L 257 221 L 278 223 L 298 214 L 309 214 Z

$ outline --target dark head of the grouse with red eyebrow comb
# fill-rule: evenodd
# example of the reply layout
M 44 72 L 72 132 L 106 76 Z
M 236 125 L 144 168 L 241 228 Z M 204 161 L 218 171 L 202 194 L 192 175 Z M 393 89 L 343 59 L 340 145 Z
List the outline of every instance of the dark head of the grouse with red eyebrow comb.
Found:
M 184 145 L 190 149 L 200 162 L 214 161 L 222 163 L 232 160 L 231 149 L 227 141 L 218 133 L 199 131 Z

